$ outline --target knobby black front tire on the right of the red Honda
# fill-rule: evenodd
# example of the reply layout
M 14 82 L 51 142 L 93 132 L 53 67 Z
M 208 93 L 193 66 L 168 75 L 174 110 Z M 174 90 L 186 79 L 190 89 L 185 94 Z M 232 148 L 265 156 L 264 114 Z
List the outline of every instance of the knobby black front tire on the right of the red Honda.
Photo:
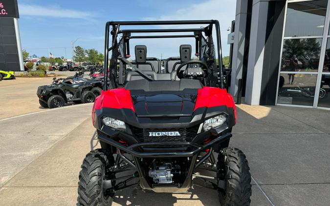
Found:
M 220 172 L 224 169 L 226 191 L 219 189 L 221 206 L 249 206 L 251 203 L 251 174 L 244 153 L 237 148 L 224 148 L 218 156 Z M 222 172 L 221 172 L 222 173 Z

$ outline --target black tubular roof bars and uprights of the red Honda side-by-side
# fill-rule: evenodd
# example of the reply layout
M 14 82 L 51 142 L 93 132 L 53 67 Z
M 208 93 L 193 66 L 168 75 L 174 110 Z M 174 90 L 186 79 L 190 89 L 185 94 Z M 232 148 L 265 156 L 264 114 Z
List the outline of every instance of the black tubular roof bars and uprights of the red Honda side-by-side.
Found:
M 212 26 L 213 24 L 216 27 L 217 34 L 217 51 L 218 51 L 218 62 L 219 62 L 219 74 L 218 79 L 220 79 L 220 88 L 223 87 L 223 77 L 222 77 L 222 53 L 221 53 L 221 36 L 220 36 L 220 23 L 218 20 L 193 20 L 193 21 L 108 21 L 106 23 L 106 32 L 105 32 L 105 52 L 104 52 L 104 90 L 108 90 L 108 67 L 109 67 L 109 52 L 114 48 L 114 44 L 116 42 L 116 38 L 119 33 L 119 27 L 121 25 L 184 25 L 184 24 L 209 24 Z M 111 35 L 112 44 L 109 48 L 109 35 L 110 35 L 110 25 L 112 26 Z M 203 28 L 192 29 L 194 31 L 204 31 Z M 189 32 L 189 29 L 136 29 L 135 31 L 139 31 L 139 33 L 148 33 L 149 32 Z M 171 30 L 171 31 L 170 31 Z M 125 30 L 121 30 L 124 32 Z M 130 30 L 126 30 L 129 32 Z M 131 32 L 134 30 L 131 30 Z M 110 71 L 111 72 L 111 71 Z

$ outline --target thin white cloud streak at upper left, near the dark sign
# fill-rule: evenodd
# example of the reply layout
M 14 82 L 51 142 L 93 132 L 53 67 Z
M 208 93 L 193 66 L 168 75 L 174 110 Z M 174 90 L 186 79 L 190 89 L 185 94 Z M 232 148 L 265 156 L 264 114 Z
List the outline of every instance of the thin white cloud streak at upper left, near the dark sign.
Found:
M 55 18 L 89 19 L 92 17 L 88 11 L 66 9 L 60 6 L 40 6 L 33 4 L 19 4 L 20 15 Z

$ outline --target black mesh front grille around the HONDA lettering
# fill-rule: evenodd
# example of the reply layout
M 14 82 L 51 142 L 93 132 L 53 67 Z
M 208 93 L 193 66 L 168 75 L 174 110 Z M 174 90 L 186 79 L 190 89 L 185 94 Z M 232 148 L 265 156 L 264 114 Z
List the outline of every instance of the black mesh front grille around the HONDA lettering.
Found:
M 178 129 L 143 129 L 130 126 L 132 134 L 141 142 L 191 142 L 197 135 L 198 127 Z M 149 136 L 149 132 L 179 132 L 180 136 Z

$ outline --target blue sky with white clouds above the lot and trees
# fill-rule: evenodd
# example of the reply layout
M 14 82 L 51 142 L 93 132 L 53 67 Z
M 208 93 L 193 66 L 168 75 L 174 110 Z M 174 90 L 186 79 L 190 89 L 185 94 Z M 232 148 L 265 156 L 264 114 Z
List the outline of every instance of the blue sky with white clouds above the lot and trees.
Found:
M 22 49 L 39 57 L 48 57 L 49 49 L 55 57 L 67 59 L 72 56 L 72 41 L 103 53 L 107 21 L 147 20 L 219 20 L 222 56 L 228 56 L 227 29 L 236 10 L 236 0 L 18 0 L 18 4 Z M 130 41 L 131 54 L 134 45 L 145 44 L 148 57 L 176 57 L 180 44 L 186 43 L 194 48 L 194 39 L 135 39 Z

